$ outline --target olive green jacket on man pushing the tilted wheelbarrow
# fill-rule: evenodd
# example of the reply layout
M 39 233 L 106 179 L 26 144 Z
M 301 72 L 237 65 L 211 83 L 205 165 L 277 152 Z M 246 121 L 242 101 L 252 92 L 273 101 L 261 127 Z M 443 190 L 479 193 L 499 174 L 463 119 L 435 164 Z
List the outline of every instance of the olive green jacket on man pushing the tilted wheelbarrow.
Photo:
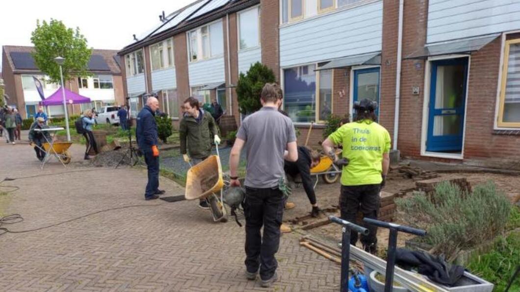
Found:
M 209 112 L 200 109 L 202 120 L 184 115 L 179 125 L 180 154 L 188 153 L 191 158 L 205 158 L 211 154 L 213 137 L 218 134 L 215 120 Z

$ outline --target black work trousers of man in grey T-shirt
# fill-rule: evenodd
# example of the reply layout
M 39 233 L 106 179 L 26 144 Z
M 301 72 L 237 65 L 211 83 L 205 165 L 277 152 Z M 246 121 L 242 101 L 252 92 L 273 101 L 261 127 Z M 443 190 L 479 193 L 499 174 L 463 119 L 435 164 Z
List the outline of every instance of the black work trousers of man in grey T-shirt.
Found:
M 283 202 L 278 188 L 245 187 L 245 267 L 251 273 L 259 267 L 262 280 L 269 280 L 278 267 L 275 254 L 280 245 Z

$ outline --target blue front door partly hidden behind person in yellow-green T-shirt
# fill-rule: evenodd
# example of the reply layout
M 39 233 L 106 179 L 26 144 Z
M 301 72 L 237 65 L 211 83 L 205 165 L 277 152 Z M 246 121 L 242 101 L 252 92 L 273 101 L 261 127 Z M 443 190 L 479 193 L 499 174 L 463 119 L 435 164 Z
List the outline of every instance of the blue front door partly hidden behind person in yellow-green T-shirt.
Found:
M 354 70 L 354 97 L 353 101 L 370 99 L 379 105 L 379 67 Z M 351 115 L 354 117 L 354 113 Z M 375 111 L 379 119 L 379 106 Z

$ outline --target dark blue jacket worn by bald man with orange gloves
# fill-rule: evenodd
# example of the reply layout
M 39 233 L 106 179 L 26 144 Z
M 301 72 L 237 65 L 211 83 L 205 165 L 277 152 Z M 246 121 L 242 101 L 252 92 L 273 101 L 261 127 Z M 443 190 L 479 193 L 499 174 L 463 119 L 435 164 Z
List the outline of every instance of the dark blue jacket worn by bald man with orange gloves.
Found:
M 153 145 L 157 145 L 158 134 L 155 113 L 148 105 L 145 105 L 137 115 L 135 136 L 142 151 L 150 151 Z

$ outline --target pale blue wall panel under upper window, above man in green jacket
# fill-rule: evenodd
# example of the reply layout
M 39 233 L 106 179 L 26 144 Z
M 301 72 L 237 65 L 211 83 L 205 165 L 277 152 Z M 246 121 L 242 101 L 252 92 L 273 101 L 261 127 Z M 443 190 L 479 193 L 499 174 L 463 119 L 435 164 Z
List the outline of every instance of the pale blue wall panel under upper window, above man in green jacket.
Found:
M 225 82 L 224 58 L 188 63 L 190 86 Z

